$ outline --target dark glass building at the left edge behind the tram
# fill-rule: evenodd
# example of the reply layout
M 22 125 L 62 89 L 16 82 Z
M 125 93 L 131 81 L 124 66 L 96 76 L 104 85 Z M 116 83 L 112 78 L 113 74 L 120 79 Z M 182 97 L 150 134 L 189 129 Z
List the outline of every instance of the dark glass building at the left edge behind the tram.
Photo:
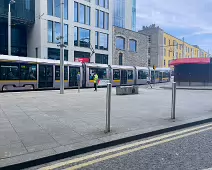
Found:
M 10 0 L 0 0 L 0 54 L 8 54 L 8 7 Z M 16 0 L 11 4 L 11 53 L 27 56 L 29 39 L 35 23 L 35 0 Z

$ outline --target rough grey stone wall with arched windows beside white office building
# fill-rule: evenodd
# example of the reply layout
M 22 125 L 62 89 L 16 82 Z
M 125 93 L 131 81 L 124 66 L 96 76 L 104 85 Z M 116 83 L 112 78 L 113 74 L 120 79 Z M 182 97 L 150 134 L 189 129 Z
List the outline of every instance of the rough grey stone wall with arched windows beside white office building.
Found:
M 125 50 L 116 49 L 116 37 L 125 38 Z M 129 40 L 137 41 L 137 51 L 129 51 Z M 119 53 L 123 54 L 123 65 L 148 66 L 147 36 L 131 30 L 113 27 L 113 65 L 119 65 Z

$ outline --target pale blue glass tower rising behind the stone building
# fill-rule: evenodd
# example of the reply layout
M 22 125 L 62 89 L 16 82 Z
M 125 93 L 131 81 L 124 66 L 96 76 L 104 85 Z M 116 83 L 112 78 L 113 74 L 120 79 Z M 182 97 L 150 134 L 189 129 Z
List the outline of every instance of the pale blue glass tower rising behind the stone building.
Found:
M 136 31 L 136 0 L 113 0 L 113 25 Z

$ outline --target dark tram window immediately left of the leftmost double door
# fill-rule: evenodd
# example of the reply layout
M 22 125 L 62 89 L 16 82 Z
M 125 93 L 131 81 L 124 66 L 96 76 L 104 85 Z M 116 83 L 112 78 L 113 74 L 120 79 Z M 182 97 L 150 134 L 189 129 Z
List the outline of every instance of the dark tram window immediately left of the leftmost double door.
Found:
M 35 64 L 21 64 L 20 80 L 37 80 L 37 66 Z

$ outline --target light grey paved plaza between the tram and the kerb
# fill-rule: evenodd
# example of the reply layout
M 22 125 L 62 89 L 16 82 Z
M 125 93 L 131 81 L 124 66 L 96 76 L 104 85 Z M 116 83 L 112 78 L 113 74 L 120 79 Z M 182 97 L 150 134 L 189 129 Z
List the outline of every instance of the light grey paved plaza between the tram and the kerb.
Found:
M 141 87 L 139 95 L 112 90 L 112 132 L 104 133 L 106 89 L 0 94 L 0 167 L 212 117 L 212 91 Z

